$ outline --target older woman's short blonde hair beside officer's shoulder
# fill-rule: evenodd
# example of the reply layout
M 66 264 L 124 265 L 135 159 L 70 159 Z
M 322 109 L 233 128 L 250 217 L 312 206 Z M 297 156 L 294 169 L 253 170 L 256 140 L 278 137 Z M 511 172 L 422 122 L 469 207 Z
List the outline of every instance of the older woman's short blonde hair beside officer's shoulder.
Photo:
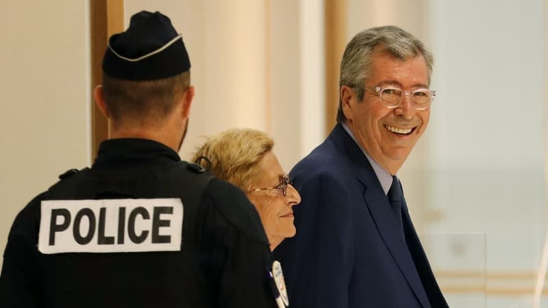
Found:
M 258 163 L 272 150 L 274 141 L 256 129 L 229 129 L 206 140 L 192 158 L 219 179 L 243 191 L 251 189 L 251 181 L 261 170 Z M 206 157 L 206 159 L 199 159 Z

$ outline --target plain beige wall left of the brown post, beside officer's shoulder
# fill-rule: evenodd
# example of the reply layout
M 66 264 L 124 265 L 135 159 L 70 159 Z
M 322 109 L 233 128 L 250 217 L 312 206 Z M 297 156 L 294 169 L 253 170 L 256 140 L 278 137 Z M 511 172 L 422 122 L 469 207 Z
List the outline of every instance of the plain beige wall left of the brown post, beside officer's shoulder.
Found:
M 3 1 L 0 40 L 3 251 L 18 211 L 89 164 L 87 1 Z

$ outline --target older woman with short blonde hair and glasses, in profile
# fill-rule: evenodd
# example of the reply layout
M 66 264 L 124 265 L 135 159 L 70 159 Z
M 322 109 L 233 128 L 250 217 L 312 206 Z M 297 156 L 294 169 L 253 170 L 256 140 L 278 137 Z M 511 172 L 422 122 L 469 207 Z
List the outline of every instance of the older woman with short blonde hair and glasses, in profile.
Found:
M 299 192 L 272 152 L 272 138 L 256 129 L 229 129 L 210 137 L 194 161 L 243 190 L 255 205 L 273 250 L 295 235 L 292 207 Z

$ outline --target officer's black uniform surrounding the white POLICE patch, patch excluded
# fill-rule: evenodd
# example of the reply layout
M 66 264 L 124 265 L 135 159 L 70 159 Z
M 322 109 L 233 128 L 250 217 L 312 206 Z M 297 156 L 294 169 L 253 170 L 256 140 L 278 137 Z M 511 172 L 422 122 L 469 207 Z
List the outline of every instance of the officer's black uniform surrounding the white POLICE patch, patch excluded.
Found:
M 90 170 L 66 175 L 18 214 L 4 253 L 0 307 L 275 307 L 256 210 L 234 186 L 208 179 L 158 142 L 103 142 Z M 193 196 L 188 188 L 200 181 L 203 194 Z M 181 251 L 37 250 L 42 200 L 155 196 L 183 200 Z

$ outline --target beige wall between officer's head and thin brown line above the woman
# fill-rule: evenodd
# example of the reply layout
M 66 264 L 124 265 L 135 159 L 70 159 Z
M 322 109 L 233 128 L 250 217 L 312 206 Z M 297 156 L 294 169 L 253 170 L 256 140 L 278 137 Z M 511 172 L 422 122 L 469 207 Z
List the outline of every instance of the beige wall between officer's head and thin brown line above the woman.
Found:
M 125 1 L 126 26 L 140 10 L 169 16 L 190 55 L 196 96 L 183 158 L 201 136 L 237 126 L 266 130 L 264 1 Z

